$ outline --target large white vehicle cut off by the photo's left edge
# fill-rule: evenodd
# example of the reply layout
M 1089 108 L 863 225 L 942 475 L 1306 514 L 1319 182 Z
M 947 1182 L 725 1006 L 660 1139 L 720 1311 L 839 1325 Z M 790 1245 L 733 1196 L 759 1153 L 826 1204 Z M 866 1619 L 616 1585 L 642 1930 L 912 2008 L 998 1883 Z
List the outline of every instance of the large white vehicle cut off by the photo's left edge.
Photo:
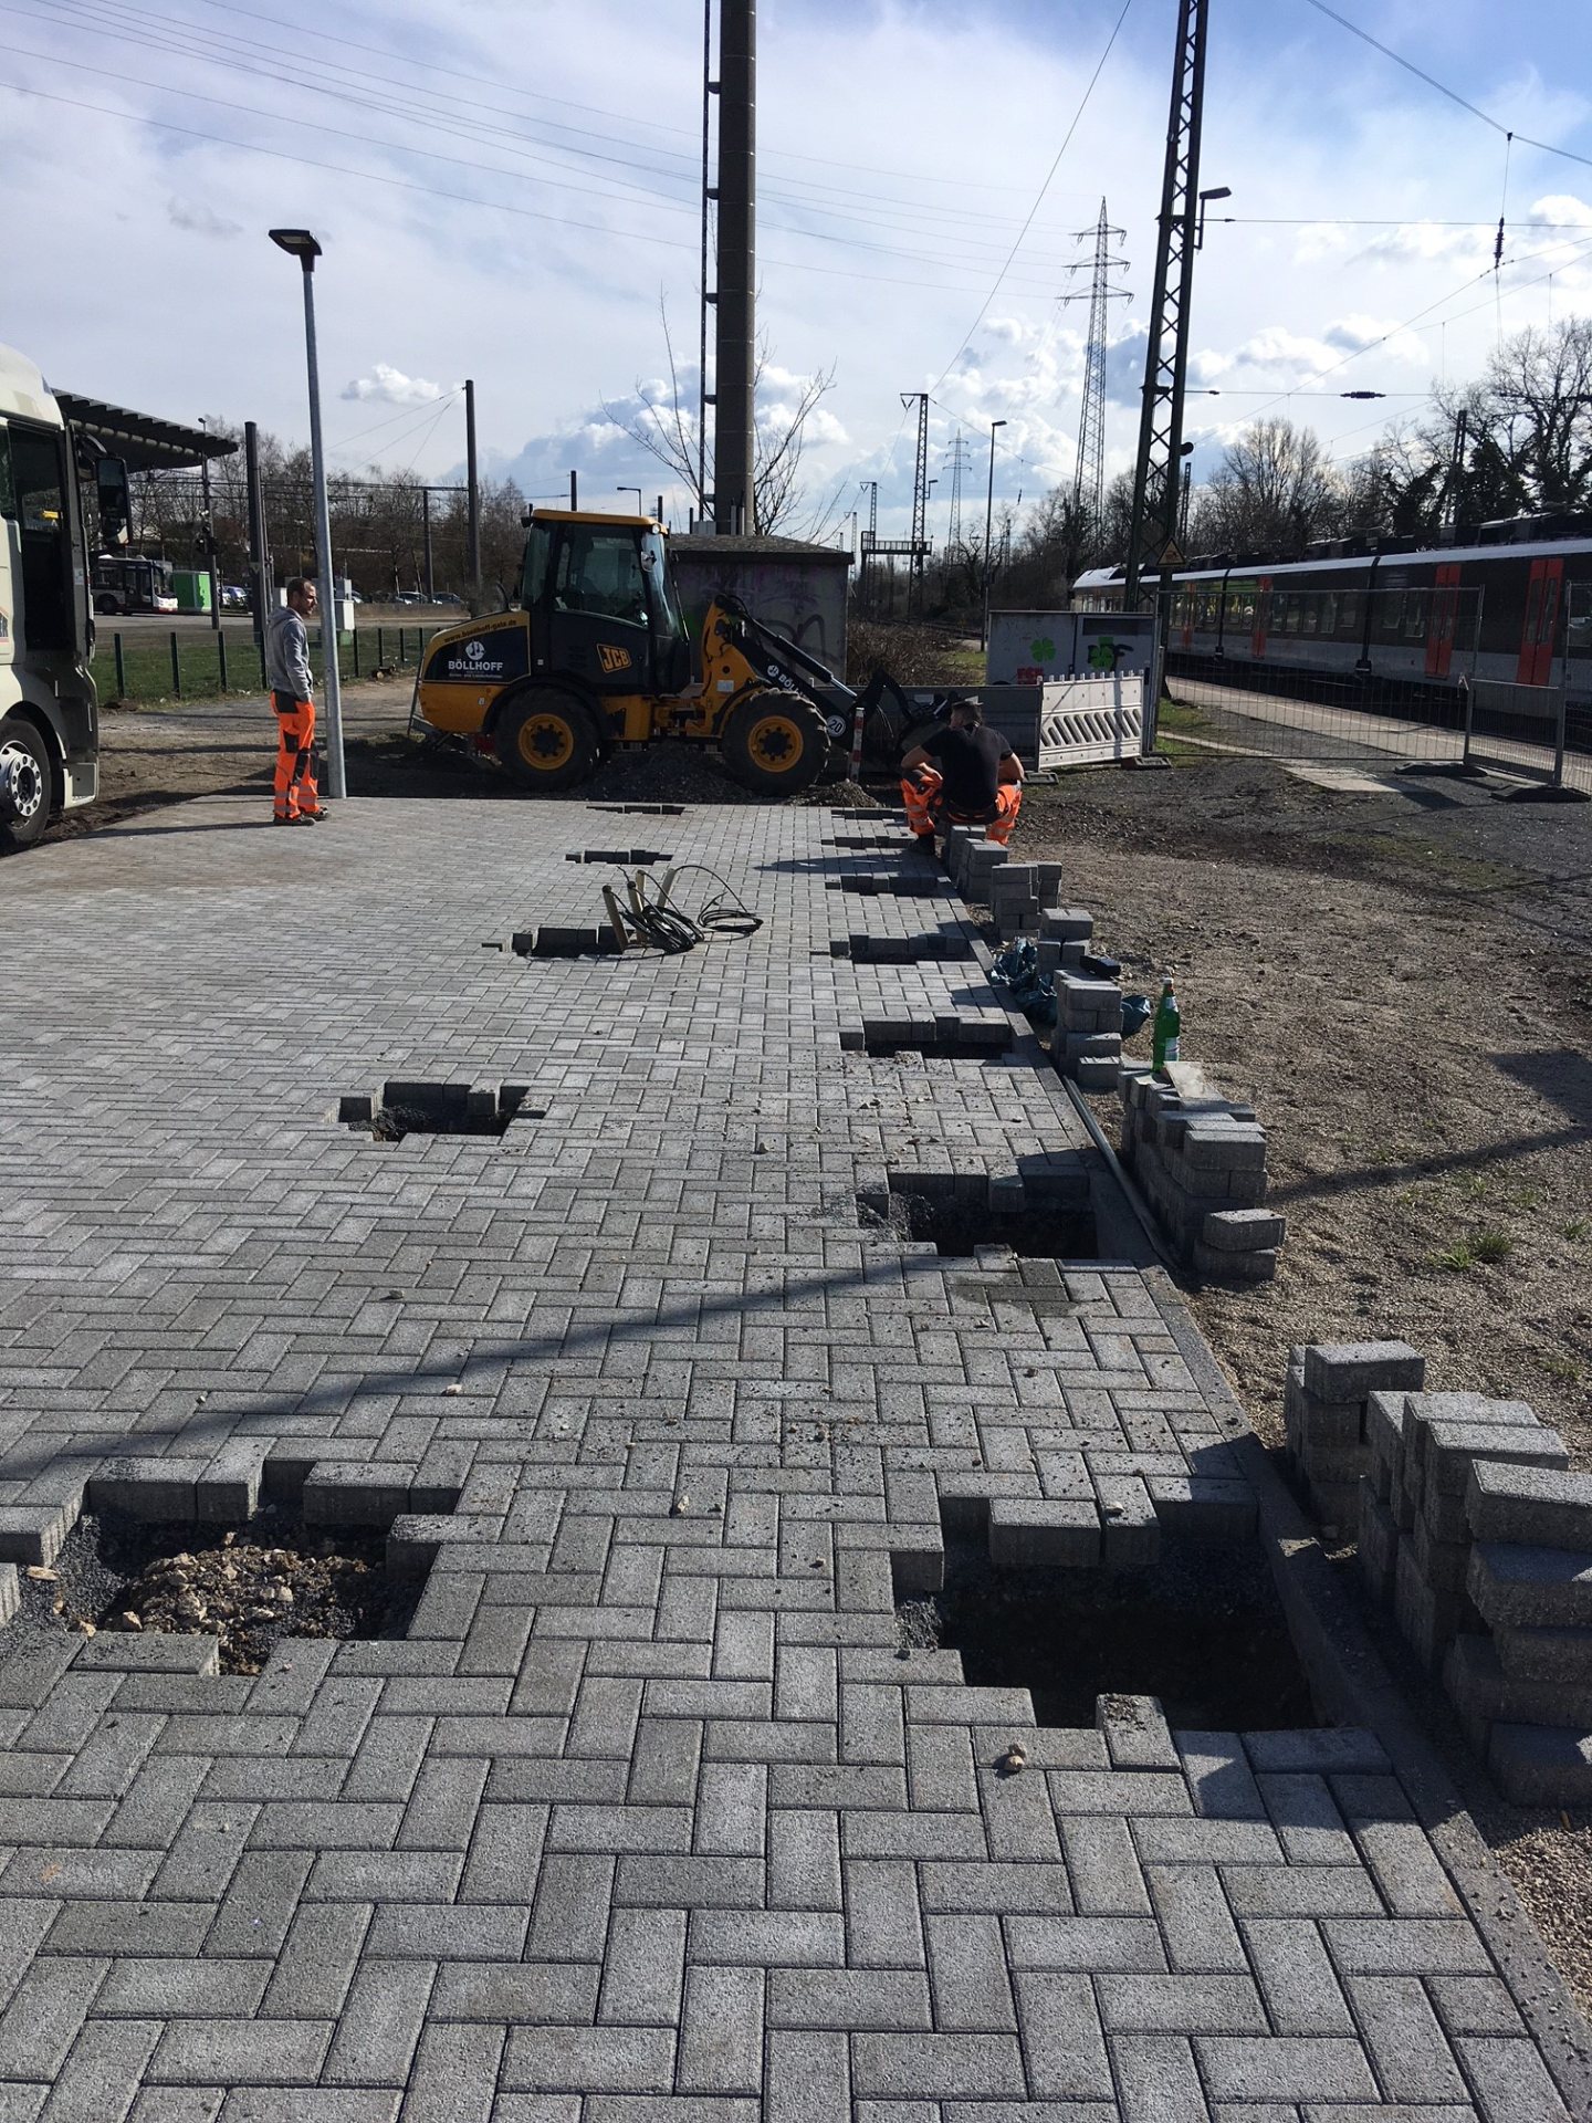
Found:
M 127 467 L 74 435 L 34 363 L 0 346 L 0 853 L 100 788 L 79 471 L 98 488 L 100 537 L 119 543 Z

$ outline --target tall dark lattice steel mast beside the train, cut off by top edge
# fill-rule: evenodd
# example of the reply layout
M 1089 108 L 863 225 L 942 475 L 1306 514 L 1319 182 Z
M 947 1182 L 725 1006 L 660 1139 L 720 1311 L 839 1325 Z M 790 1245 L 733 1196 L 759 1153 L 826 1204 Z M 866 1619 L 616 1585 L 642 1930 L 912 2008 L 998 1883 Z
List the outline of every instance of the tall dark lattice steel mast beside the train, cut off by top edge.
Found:
M 1178 0 L 1178 49 L 1172 66 L 1172 113 L 1161 178 L 1150 342 L 1144 357 L 1144 412 L 1138 431 L 1134 516 L 1127 539 L 1123 603 L 1129 611 L 1138 609 L 1140 603 L 1140 577 L 1146 571 L 1153 573 L 1167 548 L 1176 546 L 1208 17 L 1210 0 Z

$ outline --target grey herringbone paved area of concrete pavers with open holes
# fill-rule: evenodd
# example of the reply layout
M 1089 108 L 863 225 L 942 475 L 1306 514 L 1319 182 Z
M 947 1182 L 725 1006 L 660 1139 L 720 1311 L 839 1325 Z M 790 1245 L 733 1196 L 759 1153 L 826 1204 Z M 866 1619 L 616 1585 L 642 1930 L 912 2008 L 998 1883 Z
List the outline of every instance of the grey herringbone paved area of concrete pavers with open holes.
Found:
M 1254 1499 L 1138 1261 L 860 1221 L 1110 1191 L 979 962 L 836 955 L 970 934 L 870 834 L 212 798 L 6 864 L 0 1571 L 263 1492 L 425 1573 L 259 1677 L 0 1630 L 6 2123 L 1571 2115 L 1369 1732 L 1042 1728 L 902 1650 L 947 1522 L 1114 1567 Z M 505 949 L 620 845 L 762 930 Z M 340 1125 L 386 1081 L 526 1089 Z

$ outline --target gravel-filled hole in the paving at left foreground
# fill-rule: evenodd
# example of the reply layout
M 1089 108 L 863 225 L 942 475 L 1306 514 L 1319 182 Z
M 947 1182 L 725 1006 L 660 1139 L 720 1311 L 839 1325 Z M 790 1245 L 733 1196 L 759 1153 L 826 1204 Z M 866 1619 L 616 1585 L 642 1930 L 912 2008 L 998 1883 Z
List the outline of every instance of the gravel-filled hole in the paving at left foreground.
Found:
M 217 1637 L 259 1673 L 284 1637 L 401 1637 L 425 1580 L 391 1580 L 384 1535 L 325 1533 L 276 1505 L 242 1526 L 85 1514 L 49 1569 L 23 1569 L 21 1635 Z

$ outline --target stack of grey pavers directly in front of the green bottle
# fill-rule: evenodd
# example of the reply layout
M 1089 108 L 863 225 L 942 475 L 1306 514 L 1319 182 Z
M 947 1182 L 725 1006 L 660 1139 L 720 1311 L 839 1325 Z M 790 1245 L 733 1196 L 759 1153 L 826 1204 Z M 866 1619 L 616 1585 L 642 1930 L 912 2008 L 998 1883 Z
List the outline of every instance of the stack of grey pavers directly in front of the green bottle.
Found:
M 1121 1159 L 1176 1257 L 1212 1282 L 1276 1274 L 1282 1216 L 1265 1208 L 1265 1129 L 1252 1106 L 1189 1087 L 1174 1062 L 1121 1072 Z

